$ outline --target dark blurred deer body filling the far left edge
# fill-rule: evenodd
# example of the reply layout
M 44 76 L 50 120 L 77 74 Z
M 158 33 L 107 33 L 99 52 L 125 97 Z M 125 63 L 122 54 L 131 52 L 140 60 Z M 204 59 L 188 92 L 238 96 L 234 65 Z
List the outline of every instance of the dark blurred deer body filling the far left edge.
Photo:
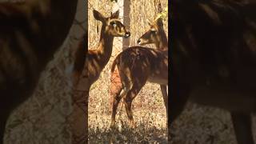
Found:
M 0 144 L 4 142 L 7 118 L 30 98 L 42 70 L 69 33 L 77 3 L 77 0 L 0 3 Z

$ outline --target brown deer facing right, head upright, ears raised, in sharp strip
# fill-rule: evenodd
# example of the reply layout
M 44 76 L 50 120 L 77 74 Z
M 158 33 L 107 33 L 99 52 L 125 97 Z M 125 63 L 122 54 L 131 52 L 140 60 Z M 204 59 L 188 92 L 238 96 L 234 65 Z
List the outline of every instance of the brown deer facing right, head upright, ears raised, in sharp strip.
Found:
M 74 84 L 77 85 L 79 77 L 81 77 L 82 70 L 85 70 L 86 77 L 88 78 L 88 86 L 90 86 L 97 81 L 99 75 L 101 74 L 103 68 L 109 62 L 114 37 L 130 37 L 130 32 L 126 30 L 122 22 L 118 20 L 119 10 L 114 14 L 110 14 L 109 18 L 104 17 L 97 10 L 93 11 L 94 18 L 102 22 L 102 30 L 100 35 L 100 40 L 98 43 L 98 49 L 88 50 L 87 54 L 77 53 L 77 58 L 74 62 Z M 80 48 L 81 49 L 81 48 Z M 79 50 L 79 48 L 78 48 Z M 85 57 L 86 58 L 82 58 Z M 79 58 L 78 58 L 79 57 Z M 85 61 L 82 61 L 85 60 Z M 81 62 L 82 61 L 82 62 Z

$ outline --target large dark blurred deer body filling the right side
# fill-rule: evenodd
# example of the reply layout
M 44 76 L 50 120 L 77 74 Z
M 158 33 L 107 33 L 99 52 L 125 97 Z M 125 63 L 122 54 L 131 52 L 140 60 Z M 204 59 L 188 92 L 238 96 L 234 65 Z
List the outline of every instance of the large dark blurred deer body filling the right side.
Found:
M 174 0 L 172 6 L 169 130 L 190 101 L 228 110 L 238 144 L 254 144 L 255 3 Z

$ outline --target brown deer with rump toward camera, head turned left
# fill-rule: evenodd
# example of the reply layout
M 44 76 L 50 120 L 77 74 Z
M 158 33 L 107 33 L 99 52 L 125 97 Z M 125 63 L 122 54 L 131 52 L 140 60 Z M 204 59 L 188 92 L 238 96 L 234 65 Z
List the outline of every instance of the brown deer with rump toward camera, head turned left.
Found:
M 149 24 L 150 30 L 147 30 L 141 38 L 138 38 L 137 42 L 141 46 L 131 46 L 123 50 L 112 63 L 111 74 L 114 72 L 115 66 L 117 66 L 122 86 L 114 94 L 111 128 L 115 126 L 116 111 L 122 98 L 130 126 L 135 126 L 131 110 L 132 101 L 147 81 L 158 83 L 161 86 L 166 114 L 168 114 L 168 95 L 166 91 L 166 85 L 168 85 L 168 42 L 163 29 L 162 18 L 149 22 Z M 142 47 L 151 43 L 155 44 L 157 50 Z

